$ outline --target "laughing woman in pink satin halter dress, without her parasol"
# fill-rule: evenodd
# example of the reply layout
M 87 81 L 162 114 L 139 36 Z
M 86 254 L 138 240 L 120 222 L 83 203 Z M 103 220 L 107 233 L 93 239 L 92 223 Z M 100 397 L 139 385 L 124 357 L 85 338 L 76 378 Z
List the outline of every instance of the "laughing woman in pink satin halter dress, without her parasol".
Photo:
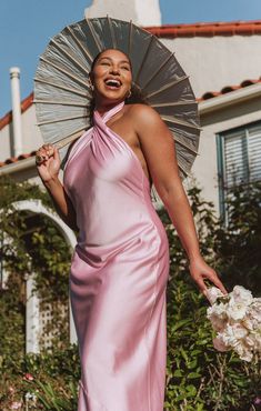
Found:
M 200 255 L 169 129 L 131 93 L 129 58 L 104 50 L 90 72 L 93 128 L 71 148 L 64 186 L 52 146 L 38 151 L 39 174 L 61 218 L 79 229 L 70 295 L 81 358 L 80 411 L 161 411 L 165 379 L 169 245 L 150 198 L 153 182 L 190 260 L 190 272 L 222 292 Z

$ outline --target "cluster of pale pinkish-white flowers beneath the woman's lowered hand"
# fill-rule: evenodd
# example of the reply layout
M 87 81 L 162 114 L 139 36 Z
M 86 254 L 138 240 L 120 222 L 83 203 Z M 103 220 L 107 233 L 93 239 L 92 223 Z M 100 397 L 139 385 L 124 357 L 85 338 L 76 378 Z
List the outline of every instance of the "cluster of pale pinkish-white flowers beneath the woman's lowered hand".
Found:
M 218 351 L 234 350 L 241 360 L 251 361 L 261 355 L 261 298 L 235 285 L 224 295 L 218 288 L 208 289 L 212 304 L 207 317 L 215 331 L 213 345 Z

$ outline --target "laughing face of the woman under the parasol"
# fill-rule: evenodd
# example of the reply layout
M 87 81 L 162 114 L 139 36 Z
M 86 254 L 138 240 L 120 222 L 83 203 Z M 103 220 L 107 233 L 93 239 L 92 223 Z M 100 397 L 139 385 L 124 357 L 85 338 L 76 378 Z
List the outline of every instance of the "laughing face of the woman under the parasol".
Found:
M 119 50 L 109 49 L 98 58 L 90 74 L 96 102 L 123 101 L 131 89 L 132 73 L 129 59 Z

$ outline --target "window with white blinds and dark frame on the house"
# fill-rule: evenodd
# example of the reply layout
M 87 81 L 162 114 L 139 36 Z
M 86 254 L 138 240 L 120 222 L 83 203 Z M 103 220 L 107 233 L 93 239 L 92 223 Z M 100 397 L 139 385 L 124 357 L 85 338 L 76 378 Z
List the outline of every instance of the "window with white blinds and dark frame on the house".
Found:
M 261 181 L 261 121 L 218 136 L 220 213 L 234 186 Z

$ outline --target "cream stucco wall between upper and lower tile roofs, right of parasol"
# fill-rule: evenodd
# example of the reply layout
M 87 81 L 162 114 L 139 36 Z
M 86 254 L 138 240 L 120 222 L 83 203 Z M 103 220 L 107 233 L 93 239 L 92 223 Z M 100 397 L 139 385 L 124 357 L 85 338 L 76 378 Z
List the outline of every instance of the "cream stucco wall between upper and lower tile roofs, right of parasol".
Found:
M 261 76 L 261 36 L 215 36 L 161 40 L 190 77 L 197 97 Z

